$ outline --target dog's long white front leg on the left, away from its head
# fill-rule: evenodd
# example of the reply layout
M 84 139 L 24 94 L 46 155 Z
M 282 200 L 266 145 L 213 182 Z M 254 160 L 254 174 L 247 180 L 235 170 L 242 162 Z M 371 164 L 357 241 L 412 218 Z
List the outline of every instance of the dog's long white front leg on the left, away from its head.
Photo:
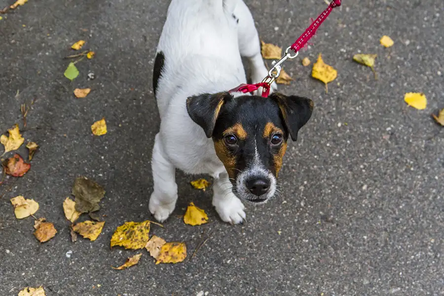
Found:
M 157 221 L 163 222 L 176 207 L 177 184 L 175 167 L 162 151 L 159 134 L 154 141 L 151 169 L 154 191 L 149 199 L 149 211 Z

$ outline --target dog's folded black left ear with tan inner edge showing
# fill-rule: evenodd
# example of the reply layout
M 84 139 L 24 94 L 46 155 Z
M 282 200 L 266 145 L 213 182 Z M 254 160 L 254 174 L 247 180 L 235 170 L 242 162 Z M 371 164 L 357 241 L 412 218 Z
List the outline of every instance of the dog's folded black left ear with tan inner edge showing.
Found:
M 227 92 L 192 96 L 186 100 L 186 111 L 203 128 L 205 135 L 211 138 L 222 105 L 232 98 Z

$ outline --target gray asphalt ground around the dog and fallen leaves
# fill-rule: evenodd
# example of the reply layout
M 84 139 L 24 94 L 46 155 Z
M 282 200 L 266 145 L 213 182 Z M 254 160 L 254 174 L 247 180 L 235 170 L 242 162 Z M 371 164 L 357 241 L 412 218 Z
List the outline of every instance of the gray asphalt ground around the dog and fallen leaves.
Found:
M 326 7 L 323 0 L 246 2 L 261 38 L 282 46 Z M 111 269 L 138 253 L 111 251 L 114 229 L 152 219 L 159 118 L 151 69 L 167 6 L 29 0 L 2 15 L 0 131 L 14 123 L 23 129 L 20 104 L 34 100 L 23 135 L 40 149 L 25 177 L 0 186 L 0 295 L 40 285 L 47 296 L 444 295 L 444 129 L 430 116 L 444 108 L 444 2 L 437 0 L 344 0 L 300 54 L 314 61 L 322 52 L 337 69 L 329 93 L 300 60 L 284 66 L 295 81 L 281 91 L 313 99 L 315 111 L 290 145 L 283 196 L 248 206 L 248 222 L 231 226 L 219 220 L 211 192 L 192 189 L 195 177 L 179 172 L 178 206 L 151 233 L 185 241 L 188 257 L 204 232 L 210 239 L 184 263 L 155 265 L 144 252 L 137 266 Z M 395 45 L 380 46 L 383 35 Z M 96 58 L 78 63 L 71 83 L 63 57 L 79 39 Z M 379 80 L 352 61 L 360 51 L 378 54 Z M 93 91 L 75 99 L 76 87 Z M 407 107 L 406 92 L 424 92 L 427 109 Z M 108 134 L 93 137 L 90 125 L 102 117 Z M 62 202 L 82 175 L 105 187 L 106 223 L 95 242 L 73 244 Z M 36 215 L 55 224 L 55 238 L 39 244 L 33 219 L 15 219 L 9 199 L 19 194 L 40 204 Z M 211 223 L 192 227 L 177 217 L 190 201 Z

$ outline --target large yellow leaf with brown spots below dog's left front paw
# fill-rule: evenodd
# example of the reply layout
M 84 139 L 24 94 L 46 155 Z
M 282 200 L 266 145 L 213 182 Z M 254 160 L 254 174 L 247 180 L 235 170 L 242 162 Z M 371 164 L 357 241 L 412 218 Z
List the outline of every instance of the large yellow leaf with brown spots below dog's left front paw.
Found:
M 117 227 L 111 237 L 111 248 L 122 246 L 125 249 L 142 249 L 149 239 L 149 221 L 125 222 Z

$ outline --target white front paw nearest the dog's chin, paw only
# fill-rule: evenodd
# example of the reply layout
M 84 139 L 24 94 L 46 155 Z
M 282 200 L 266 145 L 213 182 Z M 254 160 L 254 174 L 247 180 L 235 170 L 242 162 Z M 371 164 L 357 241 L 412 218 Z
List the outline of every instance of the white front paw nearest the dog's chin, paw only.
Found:
M 230 195 L 231 197 L 226 198 L 213 198 L 213 206 L 215 206 L 223 222 L 242 223 L 247 217 L 244 212 L 245 206 L 234 194 Z

